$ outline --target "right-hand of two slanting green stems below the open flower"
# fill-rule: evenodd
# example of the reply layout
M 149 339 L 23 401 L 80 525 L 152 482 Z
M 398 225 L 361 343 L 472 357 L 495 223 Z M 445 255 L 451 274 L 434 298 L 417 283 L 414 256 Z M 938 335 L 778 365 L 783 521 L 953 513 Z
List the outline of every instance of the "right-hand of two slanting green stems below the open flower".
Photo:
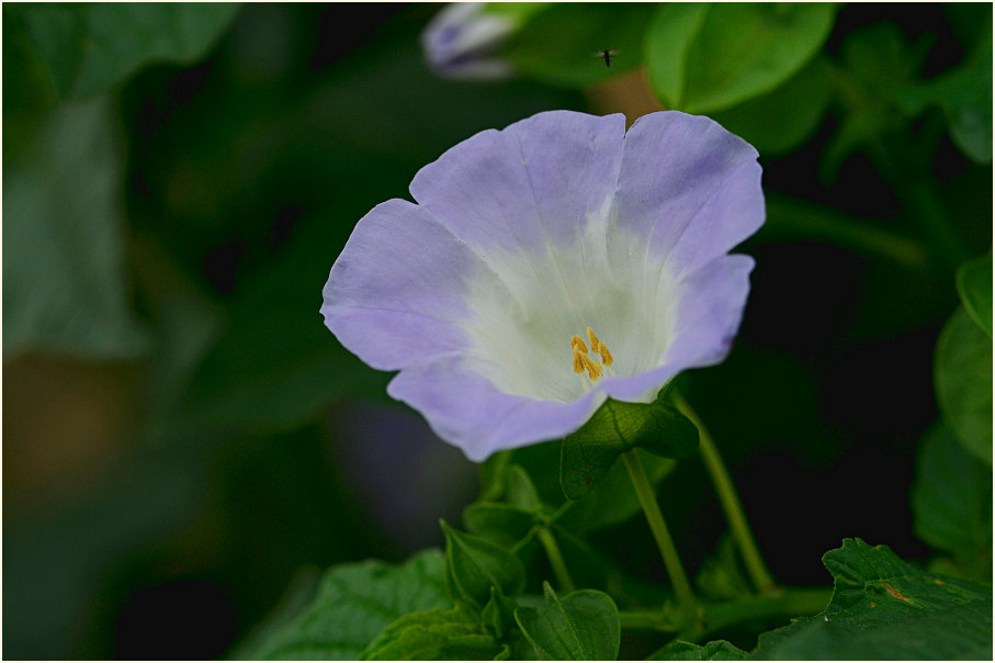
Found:
M 733 532 L 733 540 L 739 548 L 739 553 L 743 555 L 743 561 L 746 563 L 746 571 L 749 573 L 754 586 L 759 592 L 772 589 L 774 587 L 773 577 L 767 570 L 764 558 L 760 557 L 760 551 L 757 549 L 757 542 L 754 540 L 754 536 L 749 530 L 749 524 L 746 521 L 746 515 L 743 513 L 743 506 L 739 504 L 739 496 L 736 495 L 736 488 L 733 486 L 733 481 L 730 479 L 728 471 L 725 469 L 725 463 L 722 462 L 722 457 L 719 456 L 719 449 L 715 447 L 715 442 L 712 441 L 712 436 L 709 435 L 708 429 L 701 423 L 701 419 L 694 411 L 691 409 L 691 406 L 687 401 L 679 394 L 675 395 L 675 401 L 678 408 L 680 408 L 680 411 L 698 426 L 698 432 L 701 439 L 701 459 L 704 461 L 704 467 L 712 477 L 712 483 L 715 485 L 715 492 L 719 493 L 719 501 L 722 503 L 722 509 L 725 512 L 730 529 L 732 529 Z

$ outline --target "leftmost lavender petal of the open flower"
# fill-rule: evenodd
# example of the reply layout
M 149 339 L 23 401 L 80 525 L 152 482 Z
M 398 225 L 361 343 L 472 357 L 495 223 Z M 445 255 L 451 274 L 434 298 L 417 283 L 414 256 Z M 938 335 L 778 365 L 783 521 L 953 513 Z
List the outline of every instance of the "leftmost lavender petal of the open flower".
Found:
M 373 368 L 467 345 L 463 293 L 480 261 L 425 210 L 394 199 L 357 224 L 325 284 L 325 324 Z

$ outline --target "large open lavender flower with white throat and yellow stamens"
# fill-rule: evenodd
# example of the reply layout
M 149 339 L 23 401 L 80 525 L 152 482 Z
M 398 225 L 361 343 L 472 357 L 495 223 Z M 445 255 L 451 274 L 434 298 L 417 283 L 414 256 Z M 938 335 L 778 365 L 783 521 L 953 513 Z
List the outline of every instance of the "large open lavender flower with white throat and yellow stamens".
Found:
M 728 251 L 765 205 L 756 150 L 708 117 L 626 133 L 623 115 L 539 113 L 449 149 L 410 192 L 360 220 L 321 313 L 473 461 L 730 350 L 754 261 Z

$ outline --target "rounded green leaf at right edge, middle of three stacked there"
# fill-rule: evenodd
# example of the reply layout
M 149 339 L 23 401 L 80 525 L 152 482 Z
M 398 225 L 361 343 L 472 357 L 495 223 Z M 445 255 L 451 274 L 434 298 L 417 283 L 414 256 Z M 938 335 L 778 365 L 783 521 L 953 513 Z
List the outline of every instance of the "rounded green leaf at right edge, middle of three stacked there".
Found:
M 936 349 L 940 412 L 961 443 L 992 464 L 992 339 L 963 307 L 950 317 Z

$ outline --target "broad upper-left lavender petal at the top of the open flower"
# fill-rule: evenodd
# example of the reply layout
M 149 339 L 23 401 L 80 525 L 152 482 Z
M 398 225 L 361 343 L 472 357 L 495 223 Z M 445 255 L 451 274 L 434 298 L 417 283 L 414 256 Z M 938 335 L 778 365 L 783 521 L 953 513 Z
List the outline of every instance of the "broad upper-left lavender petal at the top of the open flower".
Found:
M 418 171 L 411 195 L 485 257 L 555 250 L 603 223 L 624 132 L 620 114 L 540 113 L 450 148 Z

